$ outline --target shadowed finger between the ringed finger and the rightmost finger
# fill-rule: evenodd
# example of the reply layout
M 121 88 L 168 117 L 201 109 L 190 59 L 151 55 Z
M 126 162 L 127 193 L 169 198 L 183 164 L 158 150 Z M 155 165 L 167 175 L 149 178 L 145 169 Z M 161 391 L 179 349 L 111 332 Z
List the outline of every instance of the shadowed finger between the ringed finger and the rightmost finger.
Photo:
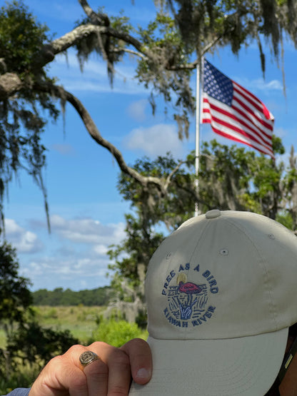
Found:
M 94 342 L 94 344 L 90 345 L 90 349 L 94 350 L 94 352 L 96 352 L 97 348 L 100 350 L 99 356 L 101 360 L 108 367 L 107 394 L 109 396 L 128 395 L 131 384 L 129 356 L 126 355 L 124 350 L 112 347 L 104 342 Z

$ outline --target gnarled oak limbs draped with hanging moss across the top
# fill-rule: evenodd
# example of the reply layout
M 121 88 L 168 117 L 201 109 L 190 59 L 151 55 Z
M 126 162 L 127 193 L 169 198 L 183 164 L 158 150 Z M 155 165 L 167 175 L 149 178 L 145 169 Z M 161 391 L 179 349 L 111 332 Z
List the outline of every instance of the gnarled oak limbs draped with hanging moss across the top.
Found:
M 263 43 L 269 44 L 276 61 L 281 58 L 284 36 L 297 44 L 297 4 L 291 0 L 159 0 L 156 18 L 146 27 L 131 26 L 129 16 L 114 17 L 104 14 L 102 9 L 95 11 L 86 0 L 79 3 L 86 17 L 57 39 L 52 39 L 46 26 L 34 19 L 24 2 L 14 0 L 0 10 L 2 225 L 4 192 L 21 168 L 26 168 L 43 191 L 48 214 L 42 178 L 46 163 L 42 133 L 45 123 L 59 115 L 57 101 L 61 101 L 62 107 L 66 102 L 74 106 L 91 138 L 109 150 L 121 172 L 151 196 L 148 202 L 156 191 L 161 198 L 170 195 L 171 175 L 144 176 L 129 166 L 119 149 L 109 142 L 109 131 L 104 131 L 107 136 L 104 138 L 79 98 L 60 86 L 57 78 L 49 78 L 46 66 L 57 54 L 76 49 L 83 69 L 89 56 L 96 52 L 106 62 L 111 83 L 116 64 L 126 54 L 133 55 L 136 78 L 148 89 L 152 109 L 156 107 L 156 95 L 163 96 L 166 106 L 174 109 L 178 133 L 183 138 L 188 134 L 189 115 L 195 110 L 191 73 L 201 56 L 226 45 L 231 45 L 233 53 L 238 54 L 242 46 L 256 41 L 264 72 Z

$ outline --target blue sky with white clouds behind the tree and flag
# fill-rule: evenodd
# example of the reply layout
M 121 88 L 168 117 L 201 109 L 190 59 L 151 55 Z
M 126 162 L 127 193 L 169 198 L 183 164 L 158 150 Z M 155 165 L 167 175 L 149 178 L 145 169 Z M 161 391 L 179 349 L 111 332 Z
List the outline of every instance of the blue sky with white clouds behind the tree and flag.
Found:
M 83 16 L 77 0 L 24 0 L 38 21 L 55 32 L 55 38 L 66 34 Z M 0 0 L 0 6 L 4 1 Z M 89 0 L 93 9 L 104 6 L 109 15 L 129 15 L 133 24 L 146 25 L 153 19 L 153 1 Z M 296 146 L 296 49 L 285 42 L 284 70 L 286 97 L 283 94 L 281 66 L 266 51 L 266 77 L 263 79 L 256 45 L 251 44 L 234 56 L 230 49 L 208 56 L 219 70 L 253 92 L 275 117 L 274 133 L 286 148 Z M 191 119 L 190 136 L 179 141 L 174 121 L 158 107 L 155 116 L 148 103 L 149 92 L 134 79 L 135 63 L 127 57 L 116 65 L 111 88 L 106 65 L 92 57 L 79 69 L 73 51 L 56 56 L 49 68 L 51 76 L 74 93 L 88 109 L 101 135 L 122 152 L 126 163 L 136 158 L 153 159 L 171 151 L 175 158 L 185 158 L 195 148 L 195 120 Z M 195 78 L 193 78 L 195 90 Z M 162 105 L 162 103 L 161 103 Z M 209 125 L 201 127 L 201 141 L 216 138 Z M 56 123 L 49 121 L 43 136 L 47 148 L 44 181 L 48 193 L 51 233 L 46 227 L 44 199 L 39 188 L 26 173 L 11 181 L 4 202 L 6 240 L 16 248 L 20 274 L 31 280 L 31 290 L 46 288 L 93 289 L 109 285 L 109 245 L 125 237 L 124 214 L 129 212 L 116 188 L 119 167 L 106 149 L 98 146 L 86 132 L 81 119 L 70 105 Z M 240 146 L 238 144 L 238 146 Z

